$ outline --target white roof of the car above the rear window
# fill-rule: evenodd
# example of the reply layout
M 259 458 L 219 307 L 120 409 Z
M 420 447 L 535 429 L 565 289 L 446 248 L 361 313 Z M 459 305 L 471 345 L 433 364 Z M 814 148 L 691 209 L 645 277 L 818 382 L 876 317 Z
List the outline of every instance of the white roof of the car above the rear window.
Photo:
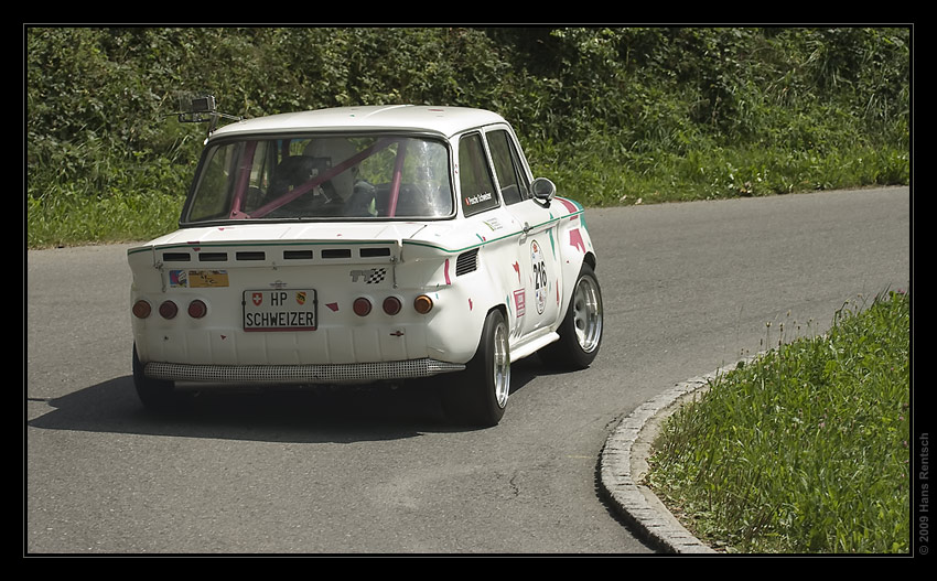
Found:
M 282 131 L 388 131 L 435 132 L 451 137 L 491 123 L 504 123 L 495 112 L 467 107 L 387 105 L 336 107 L 245 119 L 219 128 L 212 139 L 236 133 Z

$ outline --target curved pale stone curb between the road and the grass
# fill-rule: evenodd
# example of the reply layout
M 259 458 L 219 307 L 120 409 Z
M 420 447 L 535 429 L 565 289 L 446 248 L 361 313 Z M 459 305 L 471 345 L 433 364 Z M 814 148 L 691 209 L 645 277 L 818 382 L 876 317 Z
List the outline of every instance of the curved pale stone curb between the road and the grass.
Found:
M 750 362 L 755 357 L 741 359 Z M 617 513 L 639 534 L 664 552 L 719 555 L 688 531 L 664 503 L 639 484 L 647 473 L 647 458 L 660 426 L 690 400 L 708 388 L 718 375 L 737 366 L 679 383 L 645 401 L 623 419 L 605 441 L 600 458 L 600 485 Z

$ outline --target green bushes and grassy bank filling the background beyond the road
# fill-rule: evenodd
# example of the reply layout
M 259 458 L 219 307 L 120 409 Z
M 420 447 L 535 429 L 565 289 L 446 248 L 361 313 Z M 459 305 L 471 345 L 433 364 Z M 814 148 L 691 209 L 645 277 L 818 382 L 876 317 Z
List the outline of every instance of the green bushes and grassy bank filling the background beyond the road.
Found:
M 497 110 L 535 171 L 590 205 L 908 181 L 909 29 L 28 28 L 25 42 L 31 246 L 171 227 L 126 229 L 154 204 L 177 212 L 204 138 L 176 121 L 186 92 L 244 116 Z M 95 217 L 101 204 L 129 215 Z

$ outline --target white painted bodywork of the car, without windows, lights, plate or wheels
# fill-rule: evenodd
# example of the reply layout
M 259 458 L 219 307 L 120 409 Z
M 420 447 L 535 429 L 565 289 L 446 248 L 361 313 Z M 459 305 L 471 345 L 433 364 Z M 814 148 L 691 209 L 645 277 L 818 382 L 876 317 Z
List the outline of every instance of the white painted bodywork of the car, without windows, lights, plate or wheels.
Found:
M 278 115 L 226 126 L 208 143 L 239 135 L 391 129 L 448 140 L 456 201 L 460 136 L 506 130 L 520 151 L 499 116 L 448 107 Z M 520 160 L 531 181 L 523 152 Z M 133 340 L 143 365 L 289 368 L 431 359 L 457 370 L 475 355 L 487 313 L 499 309 L 516 361 L 558 338 L 577 277 L 583 263 L 595 266 L 594 255 L 582 206 L 563 197 L 546 207 L 532 198 L 500 203 L 467 217 L 457 209 L 444 219 L 185 225 L 128 251 L 131 304 L 144 300 L 152 308 L 150 316 L 132 318 Z M 245 292 L 279 289 L 314 293 L 314 330 L 245 330 Z M 433 301 L 428 314 L 412 308 L 421 294 Z M 374 305 L 367 316 L 353 312 L 359 297 Z M 401 302 L 399 314 L 381 311 L 388 297 Z M 165 300 L 179 308 L 173 319 L 158 313 Z M 207 305 L 205 316 L 186 314 L 193 300 Z M 314 380 L 303 376 L 303 383 Z M 322 380 L 342 383 L 335 374 Z

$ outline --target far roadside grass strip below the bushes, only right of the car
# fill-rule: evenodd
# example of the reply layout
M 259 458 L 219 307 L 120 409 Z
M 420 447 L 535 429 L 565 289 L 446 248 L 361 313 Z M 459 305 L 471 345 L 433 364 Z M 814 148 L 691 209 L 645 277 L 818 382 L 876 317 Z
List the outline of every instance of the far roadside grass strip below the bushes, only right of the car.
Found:
M 685 151 L 635 152 L 608 139 L 564 148 L 528 144 L 536 175 L 585 206 L 765 196 L 871 185 L 906 185 L 906 149 L 841 146 L 827 151 L 725 147 L 698 140 Z

